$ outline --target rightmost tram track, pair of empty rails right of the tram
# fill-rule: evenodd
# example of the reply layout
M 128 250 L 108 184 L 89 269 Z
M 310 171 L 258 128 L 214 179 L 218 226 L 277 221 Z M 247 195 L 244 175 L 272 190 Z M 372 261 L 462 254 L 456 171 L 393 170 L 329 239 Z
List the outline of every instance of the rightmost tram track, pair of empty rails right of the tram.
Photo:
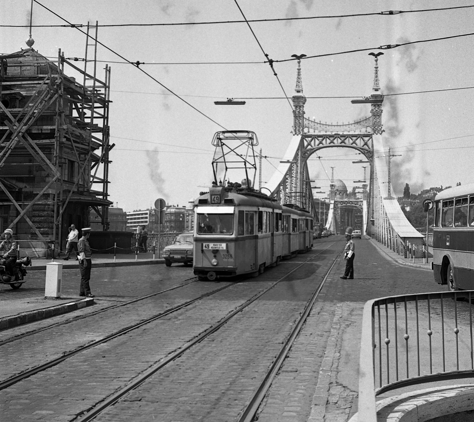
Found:
M 294 273 L 296 270 L 300 269 L 303 265 L 308 263 L 310 260 L 314 259 L 315 256 L 318 256 L 320 253 L 323 251 L 326 251 L 328 248 L 333 246 L 336 242 L 333 242 L 329 244 L 326 248 L 322 249 L 318 253 L 311 255 L 310 258 L 307 260 L 304 260 L 301 262 L 298 266 L 293 268 L 292 270 L 288 271 L 283 277 L 279 278 L 277 281 L 273 282 L 271 286 L 265 288 L 262 292 L 259 294 L 255 295 L 251 299 L 247 300 L 244 304 L 238 306 L 235 310 L 227 314 L 223 319 L 221 319 L 218 323 L 215 323 L 212 325 L 210 328 L 199 334 L 197 337 L 186 343 L 182 348 L 174 351 L 173 353 L 169 354 L 166 356 L 164 359 L 161 359 L 158 361 L 155 365 L 149 367 L 145 371 L 143 371 L 141 374 L 138 374 L 134 380 L 129 382 L 126 386 L 123 386 L 120 388 L 118 391 L 116 391 L 114 394 L 110 395 L 103 401 L 101 401 L 99 404 L 96 406 L 92 407 L 90 410 L 86 411 L 87 413 L 78 416 L 73 419 L 73 421 L 78 421 L 78 422 L 88 422 L 94 420 L 100 413 L 103 413 L 105 410 L 107 410 L 109 407 L 113 406 L 114 404 L 117 404 L 122 398 L 124 398 L 128 393 L 131 391 L 137 389 L 137 387 L 141 386 L 144 384 L 150 377 L 155 375 L 160 369 L 164 368 L 171 362 L 173 362 L 175 359 L 179 358 L 182 356 L 183 353 L 185 353 L 187 350 L 190 350 L 193 346 L 199 344 L 201 341 L 209 337 L 212 333 L 216 332 L 221 328 L 225 323 L 227 323 L 230 319 L 232 319 L 234 316 L 239 314 L 241 311 L 243 311 L 245 308 L 247 308 L 249 305 L 254 303 L 257 299 L 260 297 L 264 296 L 265 293 L 269 292 L 272 290 L 278 283 L 283 281 L 285 278 L 290 276 L 292 273 Z M 244 421 L 251 421 L 252 418 L 254 417 L 258 406 L 262 402 L 264 395 L 266 391 L 268 390 L 269 386 L 271 385 L 271 381 L 273 380 L 274 376 L 276 375 L 276 372 L 278 369 L 281 367 L 283 364 L 283 360 L 285 359 L 285 356 L 290 350 L 293 341 L 295 340 L 296 336 L 301 330 L 301 327 L 303 323 L 305 322 L 308 314 L 310 313 L 310 309 L 312 305 L 314 304 L 316 297 L 319 294 L 319 291 L 323 287 L 326 279 L 328 278 L 328 275 L 331 271 L 331 269 L 334 267 L 337 259 L 339 258 L 340 254 L 342 251 L 339 251 L 337 256 L 334 258 L 332 261 L 331 265 L 329 266 L 328 270 L 326 271 L 324 277 L 320 281 L 318 287 L 316 288 L 315 292 L 313 293 L 310 301 L 308 304 L 305 306 L 304 311 L 301 314 L 301 317 L 299 318 L 298 323 L 295 325 L 295 328 L 292 330 L 290 336 L 288 337 L 287 341 L 284 342 L 283 347 L 281 348 L 280 352 L 278 353 L 277 358 L 273 362 L 270 370 L 268 371 L 267 375 L 264 377 L 263 382 L 260 384 L 258 387 L 257 391 L 251 398 L 250 402 L 246 405 L 245 410 L 243 411 L 242 418 L 240 419 L 239 422 L 244 422 Z

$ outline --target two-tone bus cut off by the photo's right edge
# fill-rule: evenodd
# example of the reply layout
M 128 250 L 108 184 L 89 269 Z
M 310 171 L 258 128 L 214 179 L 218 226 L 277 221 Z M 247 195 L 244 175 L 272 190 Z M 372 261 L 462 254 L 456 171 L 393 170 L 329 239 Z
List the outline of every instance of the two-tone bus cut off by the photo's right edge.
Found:
M 474 183 L 445 189 L 434 199 L 432 269 L 450 291 L 474 289 Z

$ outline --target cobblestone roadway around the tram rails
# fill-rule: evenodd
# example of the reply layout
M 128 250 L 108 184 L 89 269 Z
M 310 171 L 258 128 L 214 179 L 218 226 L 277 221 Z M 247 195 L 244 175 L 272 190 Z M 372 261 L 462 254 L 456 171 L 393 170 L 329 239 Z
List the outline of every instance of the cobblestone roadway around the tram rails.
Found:
M 331 244 L 334 245 L 322 251 Z M 7 420 L 75 420 L 139 372 L 179 349 L 210 324 L 255 296 L 283 272 L 295 268 L 311 254 L 319 253 L 273 288 L 264 300 L 250 305 L 218 332 L 185 352 L 97 418 L 97 421 L 118 422 L 235 421 L 286 340 L 310 292 L 343 245 L 342 237 L 322 239 L 313 251 L 283 261 L 282 265 L 265 271 L 258 278 L 233 284 L 199 304 L 27 378 L 1 392 L 0 412 Z M 404 268 L 387 261 L 369 240 L 356 240 L 354 280 L 339 278 L 344 264 L 343 260 L 337 261 L 321 290 L 259 409 L 259 421 L 346 421 L 356 412 L 358 342 L 365 301 L 440 289 L 431 272 Z M 74 294 L 77 274 L 73 273 L 75 270 L 68 271 L 71 271 L 71 277 L 65 280 L 65 288 Z M 161 265 L 96 269 L 92 284 L 98 295 L 99 305 L 96 306 L 127 301 L 171 287 L 173 283 L 178 284 L 179 279 L 191 277 L 191 271 Z M 185 292 L 182 296 L 173 296 L 171 292 L 167 297 L 155 296 L 140 307 L 129 308 L 113 317 L 105 317 L 105 313 L 95 320 L 86 318 L 74 327 L 65 325 L 69 330 L 55 329 L 49 337 L 45 335 L 33 340 L 35 336 L 31 336 L 30 340 L 25 339 L 17 346 L 14 346 L 16 342 L 10 343 L 8 350 L 1 350 L 3 354 L 23 353 L 24 362 L 9 360 L 2 366 L 1 378 L 90 342 L 122 325 L 130 325 L 154 311 L 158 313 L 180 299 L 199 296 L 197 293 L 220 285 L 193 283 L 192 287 L 182 289 Z M 34 282 L 28 288 L 36 288 Z M 0 300 L 2 294 L 7 293 L 0 291 Z M 42 323 L 46 324 L 28 325 Z M 18 328 L 18 332 L 21 330 L 25 327 Z M 19 366 L 15 366 L 17 364 Z

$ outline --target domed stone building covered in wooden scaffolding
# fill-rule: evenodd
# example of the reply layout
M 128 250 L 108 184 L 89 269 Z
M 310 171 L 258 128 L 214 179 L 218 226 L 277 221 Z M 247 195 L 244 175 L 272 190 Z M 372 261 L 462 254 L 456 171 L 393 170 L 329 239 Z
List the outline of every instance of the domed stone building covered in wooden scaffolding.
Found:
M 91 209 L 108 230 L 110 68 L 96 77 L 96 41 L 86 41 L 84 69 L 33 43 L 0 55 L 0 228 L 44 256 L 51 243 L 64 250 L 67 227 L 88 226 Z

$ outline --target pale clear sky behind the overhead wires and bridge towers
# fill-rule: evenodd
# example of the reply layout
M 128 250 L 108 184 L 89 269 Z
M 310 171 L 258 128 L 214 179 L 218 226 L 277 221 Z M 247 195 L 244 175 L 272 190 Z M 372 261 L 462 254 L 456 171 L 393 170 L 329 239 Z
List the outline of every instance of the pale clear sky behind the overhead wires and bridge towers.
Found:
M 28 25 L 30 0 L 0 0 L 0 25 Z M 295 61 L 274 63 L 282 87 L 268 65 L 292 54 L 333 54 L 356 49 L 383 51 L 379 78 L 385 146 L 391 147 L 394 195 L 405 183 L 411 193 L 434 186 L 474 182 L 473 89 L 474 36 L 429 41 L 377 50 L 381 45 L 429 40 L 472 32 L 474 8 L 408 12 L 474 5 L 474 1 L 334 1 L 334 0 L 42 0 L 41 4 L 74 24 L 99 25 L 194 23 L 154 27 L 99 27 L 98 40 L 140 68 L 99 46 L 98 78 L 111 66 L 109 125 L 112 163 L 109 199 L 125 211 L 153 207 L 157 198 L 186 205 L 206 190 L 213 175 L 213 135 L 223 130 L 254 131 L 262 162 L 262 182 L 270 180 L 292 136 Z M 195 25 L 198 22 L 303 18 L 272 22 Z M 393 15 L 351 16 L 386 10 Z M 37 3 L 33 25 L 64 21 Z M 0 54 L 26 48 L 29 28 L 0 27 Z M 33 27 L 33 48 L 46 57 L 84 57 L 86 36 L 71 27 Z M 334 54 L 301 61 L 305 116 L 327 123 L 347 123 L 370 116 L 370 105 L 351 98 L 371 93 L 374 60 L 370 51 Z M 198 63 L 214 64 L 198 64 Z M 225 62 L 225 63 L 223 63 Z M 250 62 L 250 63 L 249 63 Z M 77 62 L 81 63 L 81 62 Z M 77 64 L 75 63 L 75 64 Z M 176 64 L 180 63 L 180 64 Z M 191 64 L 182 64 L 191 63 Z M 219 64 L 218 64 L 219 63 Z M 75 76 L 70 73 L 71 76 Z M 169 90 L 181 97 L 170 93 Z M 456 89 L 456 90 L 453 90 Z M 406 94 L 419 91 L 445 90 Z M 216 106 L 214 101 L 245 99 L 245 106 Z M 190 105 L 186 104 L 187 101 Z M 199 111 L 197 111 L 197 110 Z M 219 126 L 220 125 L 220 126 Z M 310 177 L 324 198 L 334 178 L 348 189 L 360 186 L 363 158 L 349 148 L 327 148 L 308 162 Z M 369 169 L 367 168 L 367 178 Z M 242 174 L 242 178 L 244 175 Z M 257 173 L 258 181 L 258 173 Z M 236 180 L 239 181 L 240 179 Z

